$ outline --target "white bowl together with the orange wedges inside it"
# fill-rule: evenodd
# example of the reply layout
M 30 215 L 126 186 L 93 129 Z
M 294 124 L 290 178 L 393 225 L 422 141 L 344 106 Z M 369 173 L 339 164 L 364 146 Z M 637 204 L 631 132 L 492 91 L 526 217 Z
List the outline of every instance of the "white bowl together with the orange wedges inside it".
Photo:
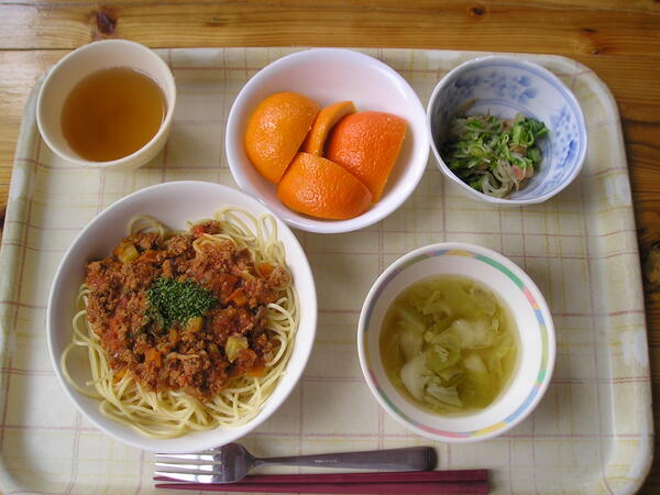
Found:
M 351 50 L 312 48 L 248 81 L 229 114 L 226 152 L 238 185 L 289 226 L 350 232 L 415 190 L 429 154 L 425 120 L 392 67 Z

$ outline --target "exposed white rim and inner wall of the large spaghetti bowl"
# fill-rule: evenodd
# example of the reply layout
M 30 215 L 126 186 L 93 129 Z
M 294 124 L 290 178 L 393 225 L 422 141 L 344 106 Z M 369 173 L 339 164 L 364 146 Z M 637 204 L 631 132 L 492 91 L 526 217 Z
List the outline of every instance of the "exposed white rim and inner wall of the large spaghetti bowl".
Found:
M 73 318 L 75 312 L 75 294 L 77 294 L 77 287 L 75 287 L 74 290 L 74 287 L 67 286 L 66 284 L 67 280 L 72 279 L 77 280 L 77 284 L 82 282 L 84 267 L 90 258 L 72 260 L 72 257 L 77 256 L 80 253 L 90 252 L 94 249 L 98 250 L 98 246 L 90 248 L 85 244 L 89 243 L 91 234 L 98 232 L 99 226 L 109 229 L 109 223 L 119 216 L 122 218 L 123 223 L 121 223 L 120 227 L 117 227 L 116 230 L 121 229 L 122 232 L 125 232 L 125 227 L 131 218 L 144 212 L 131 211 L 131 208 L 139 208 L 150 201 L 156 202 L 156 199 L 154 198 L 163 196 L 170 198 L 172 196 L 169 193 L 176 191 L 177 189 L 180 191 L 179 194 L 189 193 L 191 190 L 197 193 L 196 200 L 198 201 L 198 206 L 191 206 L 189 207 L 190 209 L 202 208 L 202 202 L 205 202 L 204 207 L 206 208 L 206 204 L 210 202 L 209 198 L 213 198 L 213 202 L 208 205 L 208 211 L 206 213 L 199 212 L 197 218 L 186 220 L 195 221 L 201 218 L 209 218 L 217 209 L 231 205 L 232 201 L 241 201 L 238 206 L 245 208 L 252 213 L 258 215 L 263 212 L 273 216 L 277 223 L 278 239 L 285 244 L 287 266 L 294 274 L 294 283 L 299 292 L 300 319 L 296 332 L 293 354 L 286 365 L 285 373 L 279 377 L 279 383 L 274 388 L 272 395 L 262 405 L 261 410 L 254 418 L 250 419 L 244 425 L 237 427 L 218 427 L 206 431 L 188 431 L 178 438 L 153 439 L 138 432 L 130 426 L 120 425 L 114 420 L 105 417 L 99 410 L 98 399 L 85 397 L 76 391 L 64 376 L 61 366 L 61 355 L 64 344 L 70 342 L 72 326 L 68 321 L 70 321 L 70 318 Z M 218 199 L 215 199 L 216 197 Z M 226 197 L 230 199 L 223 199 Z M 161 202 L 163 202 L 163 200 L 161 200 Z M 182 209 L 180 204 L 173 205 L 170 208 L 172 210 L 177 208 Z M 128 215 L 127 211 L 129 212 Z M 167 224 L 166 218 L 158 218 L 158 220 L 162 220 Z M 177 228 L 179 224 L 173 224 L 172 227 Z M 113 239 L 112 242 L 119 242 L 120 240 L 121 237 Z M 98 243 L 100 241 L 92 242 Z M 103 255 L 108 255 L 113 245 L 106 245 Z M 92 257 L 97 258 L 96 253 Z M 305 289 L 305 292 L 301 289 Z M 72 295 L 74 295 L 73 298 L 70 297 Z M 68 320 L 66 319 L 67 317 Z M 75 405 L 76 409 L 94 424 L 95 427 L 111 438 L 131 447 L 152 452 L 180 453 L 218 447 L 248 435 L 271 418 L 294 391 L 302 375 L 314 346 L 316 323 L 317 295 L 314 274 L 302 248 L 290 229 L 268 208 L 264 207 L 254 198 L 245 195 L 243 191 L 228 186 L 199 180 L 169 182 L 148 186 L 120 198 L 103 211 L 96 215 L 76 235 L 62 257 L 53 277 L 46 307 L 46 333 L 51 361 L 57 381 L 64 388 L 70 402 Z M 81 366 L 85 365 L 87 365 L 87 363 L 81 364 Z

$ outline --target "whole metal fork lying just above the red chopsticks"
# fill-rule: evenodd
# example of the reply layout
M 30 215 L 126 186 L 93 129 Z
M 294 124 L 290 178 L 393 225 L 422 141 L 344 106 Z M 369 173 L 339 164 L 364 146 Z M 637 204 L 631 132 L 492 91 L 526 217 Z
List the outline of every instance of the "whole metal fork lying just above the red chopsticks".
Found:
M 431 447 L 343 452 L 318 455 L 294 455 L 260 459 L 238 443 L 194 454 L 156 454 L 157 476 L 190 483 L 235 483 L 253 468 L 262 464 L 286 464 L 317 468 L 351 468 L 387 471 L 426 471 L 436 466 Z

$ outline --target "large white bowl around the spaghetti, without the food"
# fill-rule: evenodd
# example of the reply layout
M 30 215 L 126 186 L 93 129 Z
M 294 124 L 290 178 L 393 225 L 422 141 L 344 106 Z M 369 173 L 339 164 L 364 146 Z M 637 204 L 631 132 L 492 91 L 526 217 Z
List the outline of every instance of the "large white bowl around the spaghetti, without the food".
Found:
M 186 221 L 209 218 L 222 206 L 234 205 L 253 215 L 272 213 L 248 195 L 226 186 L 200 182 L 164 183 L 129 195 L 97 216 L 73 242 L 55 274 L 46 312 L 48 349 L 55 372 L 66 394 L 87 419 L 111 437 L 140 449 L 161 452 L 195 452 L 221 446 L 243 437 L 264 422 L 282 405 L 302 374 L 316 333 L 317 300 L 314 277 L 305 252 L 296 237 L 277 220 L 278 238 L 286 249 L 286 261 L 300 297 L 300 323 L 286 373 L 261 413 L 238 428 L 217 428 L 187 433 L 175 439 L 151 439 L 134 429 L 108 419 L 99 410 L 98 400 L 85 397 L 64 378 L 59 359 L 72 340 L 72 317 L 85 266 L 91 260 L 107 256 L 125 237 L 131 218 L 150 215 L 170 229 L 186 229 Z M 72 377 L 89 380 L 89 365 L 69 359 Z

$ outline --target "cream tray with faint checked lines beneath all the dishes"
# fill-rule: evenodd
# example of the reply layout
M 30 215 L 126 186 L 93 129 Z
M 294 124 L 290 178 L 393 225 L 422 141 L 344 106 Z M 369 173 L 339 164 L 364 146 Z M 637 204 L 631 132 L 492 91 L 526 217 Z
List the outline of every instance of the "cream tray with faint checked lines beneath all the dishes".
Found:
M 161 51 L 178 87 L 172 135 L 161 155 L 133 172 L 81 169 L 55 157 L 36 129 L 35 87 L 18 143 L 0 257 L 0 491 L 154 491 L 151 454 L 97 431 L 56 382 L 44 327 L 51 280 L 77 232 L 122 196 L 176 179 L 235 187 L 223 152 L 233 98 L 265 64 L 290 52 Z M 480 55 L 365 52 L 407 78 L 422 103 L 449 69 Z M 358 363 L 356 321 L 371 284 L 396 257 L 433 242 L 465 241 L 502 252 L 536 280 L 553 314 L 558 359 L 531 417 L 487 442 L 437 443 L 438 468 L 488 468 L 495 493 L 626 493 L 641 484 L 652 455 L 650 378 L 616 103 L 583 65 L 525 57 L 561 77 L 583 107 L 590 151 L 580 177 L 548 202 L 501 209 L 463 198 L 430 158 L 414 196 L 381 223 L 342 235 L 299 232 L 317 280 L 317 342 L 294 394 L 244 439 L 256 454 L 433 443 L 397 426 L 370 394 Z

